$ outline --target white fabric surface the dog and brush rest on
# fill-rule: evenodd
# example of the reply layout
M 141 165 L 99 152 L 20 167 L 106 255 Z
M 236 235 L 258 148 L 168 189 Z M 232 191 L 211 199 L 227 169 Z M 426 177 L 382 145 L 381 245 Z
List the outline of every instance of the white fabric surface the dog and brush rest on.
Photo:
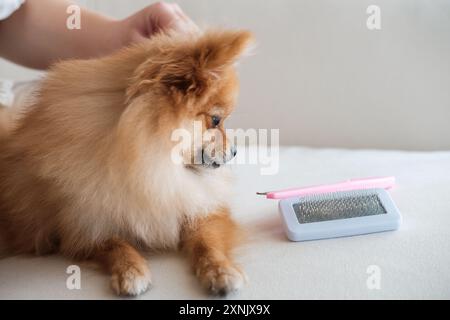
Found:
M 236 165 L 236 219 L 250 232 L 238 261 L 249 283 L 238 299 L 450 298 L 450 152 L 282 148 L 280 171 L 261 176 L 256 165 Z M 391 195 L 403 215 L 398 231 L 320 241 L 289 242 L 277 202 L 266 191 L 348 178 L 395 175 Z M 149 257 L 154 286 L 138 299 L 207 298 L 175 253 Z M 0 298 L 115 298 L 109 278 L 81 266 L 81 290 L 66 288 L 70 261 L 58 257 L 0 260 Z M 367 268 L 381 271 L 368 289 Z

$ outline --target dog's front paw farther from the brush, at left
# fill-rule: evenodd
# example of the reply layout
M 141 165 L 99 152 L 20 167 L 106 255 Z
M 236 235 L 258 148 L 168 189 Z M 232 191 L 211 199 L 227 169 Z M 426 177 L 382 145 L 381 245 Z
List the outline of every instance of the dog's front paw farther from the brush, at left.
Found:
M 111 276 L 111 286 L 121 296 L 137 296 L 147 291 L 151 284 L 152 277 L 148 267 L 130 266 Z

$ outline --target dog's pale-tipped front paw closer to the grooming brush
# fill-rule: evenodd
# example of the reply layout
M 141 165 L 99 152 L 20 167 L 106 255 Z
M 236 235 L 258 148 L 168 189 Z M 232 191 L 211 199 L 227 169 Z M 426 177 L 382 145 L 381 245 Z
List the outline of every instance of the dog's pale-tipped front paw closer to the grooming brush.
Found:
M 232 265 L 208 265 L 197 270 L 202 285 L 212 294 L 225 296 L 238 291 L 247 282 L 247 276 Z

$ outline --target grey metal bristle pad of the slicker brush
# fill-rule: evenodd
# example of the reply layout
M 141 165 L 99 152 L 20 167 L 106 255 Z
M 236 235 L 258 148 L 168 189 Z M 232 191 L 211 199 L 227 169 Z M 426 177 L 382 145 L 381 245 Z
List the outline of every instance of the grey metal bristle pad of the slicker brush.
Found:
M 333 192 L 302 197 L 294 204 L 300 223 L 347 219 L 386 213 L 374 190 Z

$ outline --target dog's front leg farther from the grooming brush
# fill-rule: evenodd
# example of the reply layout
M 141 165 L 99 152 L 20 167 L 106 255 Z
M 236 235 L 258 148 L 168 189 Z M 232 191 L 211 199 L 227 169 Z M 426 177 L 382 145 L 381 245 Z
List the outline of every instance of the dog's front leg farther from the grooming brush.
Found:
M 119 295 L 136 296 L 151 285 L 147 261 L 126 241 L 106 241 L 93 258 L 111 274 L 111 286 Z

